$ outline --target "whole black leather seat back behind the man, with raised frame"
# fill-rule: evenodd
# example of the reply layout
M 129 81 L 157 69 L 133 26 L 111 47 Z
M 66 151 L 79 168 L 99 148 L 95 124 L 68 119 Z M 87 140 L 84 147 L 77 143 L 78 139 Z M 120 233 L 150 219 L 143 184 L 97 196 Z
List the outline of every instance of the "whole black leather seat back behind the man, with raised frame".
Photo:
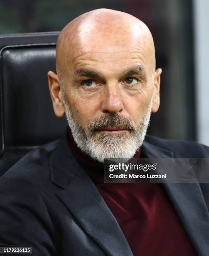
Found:
M 58 32 L 0 36 L 0 176 L 33 148 L 60 137 L 47 72 L 55 71 Z

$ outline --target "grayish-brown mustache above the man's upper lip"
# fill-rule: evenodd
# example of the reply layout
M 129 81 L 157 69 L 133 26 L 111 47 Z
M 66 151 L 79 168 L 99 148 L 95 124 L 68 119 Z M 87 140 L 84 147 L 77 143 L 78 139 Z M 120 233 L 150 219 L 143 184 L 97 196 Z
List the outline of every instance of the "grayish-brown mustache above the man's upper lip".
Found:
M 86 135 L 91 136 L 93 132 L 106 127 L 120 128 L 135 133 L 137 128 L 131 117 L 125 117 L 119 114 L 103 115 L 93 119 L 86 128 Z

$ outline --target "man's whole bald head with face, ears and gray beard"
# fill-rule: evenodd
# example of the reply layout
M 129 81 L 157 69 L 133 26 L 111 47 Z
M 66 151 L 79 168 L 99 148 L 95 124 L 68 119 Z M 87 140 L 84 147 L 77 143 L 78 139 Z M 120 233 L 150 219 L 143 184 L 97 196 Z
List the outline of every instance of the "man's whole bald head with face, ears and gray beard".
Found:
M 115 10 L 85 13 L 61 31 L 56 68 L 57 74 L 48 72 L 53 108 L 58 117 L 66 113 L 80 149 L 98 161 L 133 155 L 144 139 L 151 111 L 156 112 L 160 102 L 161 69 L 155 70 L 149 28 Z M 93 125 L 89 132 L 95 121 L 102 125 L 101 118 L 111 119 L 103 119 L 103 127 Z M 88 134 L 90 141 L 82 134 Z

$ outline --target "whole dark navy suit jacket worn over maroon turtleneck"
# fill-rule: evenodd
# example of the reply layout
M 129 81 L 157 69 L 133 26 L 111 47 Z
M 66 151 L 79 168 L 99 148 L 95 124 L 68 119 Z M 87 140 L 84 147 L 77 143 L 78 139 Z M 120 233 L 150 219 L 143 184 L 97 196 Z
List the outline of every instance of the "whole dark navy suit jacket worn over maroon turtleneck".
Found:
M 151 136 L 146 157 L 206 158 L 197 143 Z M 198 255 L 209 255 L 209 185 L 164 184 Z M 171 230 L 172 232 L 172 230 Z M 67 131 L 21 159 L 0 179 L 0 245 L 35 256 L 133 256 L 121 228 L 68 146 Z

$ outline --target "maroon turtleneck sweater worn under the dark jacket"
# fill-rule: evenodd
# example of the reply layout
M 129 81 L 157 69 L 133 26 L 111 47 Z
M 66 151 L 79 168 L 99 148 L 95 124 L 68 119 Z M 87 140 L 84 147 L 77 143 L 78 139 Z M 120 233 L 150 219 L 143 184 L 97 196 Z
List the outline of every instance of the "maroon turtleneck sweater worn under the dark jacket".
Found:
M 115 216 L 134 256 L 196 255 L 161 184 L 104 183 L 103 164 L 76 146 L 70 130 L 69 144 Z M 133 157 L 139 158 L 141 154 L 139 149 Z

